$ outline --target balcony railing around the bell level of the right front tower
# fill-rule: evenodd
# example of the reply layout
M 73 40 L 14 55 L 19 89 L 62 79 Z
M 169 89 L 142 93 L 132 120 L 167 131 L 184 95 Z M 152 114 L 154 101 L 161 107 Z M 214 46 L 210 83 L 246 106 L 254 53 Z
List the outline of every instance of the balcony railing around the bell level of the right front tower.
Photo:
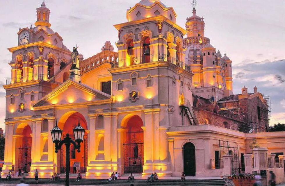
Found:
M 119 60 L 118 62 L 111 62 L 111 68 L 126 67 L 126 66 L 139 65 L 150 62 L 170 62 L 187 71 L 190 71 L 190 66 L 185 65 L 184 62 L 176 58 L 167 56 L 167 54 L 154 54 L 150 56 L 130 57 L 128 59 Z

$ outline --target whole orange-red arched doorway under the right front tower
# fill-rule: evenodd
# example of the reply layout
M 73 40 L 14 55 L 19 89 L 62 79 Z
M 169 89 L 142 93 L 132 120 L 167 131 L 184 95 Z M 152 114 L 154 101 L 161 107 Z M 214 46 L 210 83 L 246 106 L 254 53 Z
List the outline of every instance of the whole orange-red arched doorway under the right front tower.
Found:
M 126 136 L 123 144 L 124 173 L 143 172 L 143 121 L 138 115 L 126 121 Z

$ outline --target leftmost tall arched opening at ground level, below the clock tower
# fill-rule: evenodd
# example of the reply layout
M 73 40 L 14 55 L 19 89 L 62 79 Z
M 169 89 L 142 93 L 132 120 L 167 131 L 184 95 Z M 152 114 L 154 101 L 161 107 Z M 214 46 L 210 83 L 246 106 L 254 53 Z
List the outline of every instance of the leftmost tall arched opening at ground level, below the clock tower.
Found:
M 31 170 L 31 137 L 32 129 L 27 123 L 21 123 L 15 131 L 15 170 L 21 169 L 25 173 Z M 17 161 L 18 160 L 18 161 Z

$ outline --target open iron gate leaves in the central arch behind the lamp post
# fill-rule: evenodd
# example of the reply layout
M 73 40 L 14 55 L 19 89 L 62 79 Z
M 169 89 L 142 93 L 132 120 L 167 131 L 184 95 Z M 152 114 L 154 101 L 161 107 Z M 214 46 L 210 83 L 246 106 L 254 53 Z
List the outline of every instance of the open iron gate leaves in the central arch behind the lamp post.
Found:
M 73 136 L 70 136 L 72 139 L 74 138 Z M 83 144 L 82 144 L 83 143 Z M 81 146 L 84 146 L 84 160 L 83 160 L 83 167 L 80 166 L 80 172 L 85 173 L 86 172 L 86 167 L 87 167 L 87 162 L 88 162 L 88 142 L 87 138 L 83 139 L 83 142 L 81 143 Z M 76 152 L 77 153 L 77 150 Z M 72 169 L 70 169 L 72 170 Z M 66 164 L 65 164 L 65 145 L 63 145 L 60 149 L 60 173 L 65 173 L 66 172 Z

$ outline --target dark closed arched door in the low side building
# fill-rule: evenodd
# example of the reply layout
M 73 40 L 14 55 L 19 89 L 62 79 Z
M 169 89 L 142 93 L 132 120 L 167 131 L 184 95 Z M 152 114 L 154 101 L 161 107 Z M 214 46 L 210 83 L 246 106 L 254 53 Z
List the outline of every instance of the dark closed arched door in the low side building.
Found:
M 184 173 L 186 176 L 196 175 L 195 146 L 193 143 L 186 143 L 183 146 Z

